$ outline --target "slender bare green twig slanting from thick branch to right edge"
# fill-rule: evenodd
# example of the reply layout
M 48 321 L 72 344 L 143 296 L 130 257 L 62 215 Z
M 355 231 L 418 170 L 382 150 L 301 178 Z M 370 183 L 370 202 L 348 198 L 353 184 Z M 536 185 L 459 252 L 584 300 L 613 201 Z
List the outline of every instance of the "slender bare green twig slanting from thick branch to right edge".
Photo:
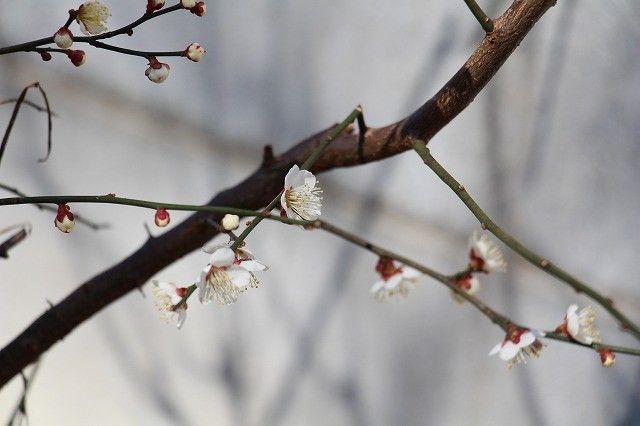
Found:
M 602 306 L 606 311 L 608 311 L 616 320 L 618 320 L 619 324 L 624 330 L 629 331 L 640 340 L 640 327 L 638 327 L 633 321 L 631 321 L 622 312 L 616 309 L 616 307 L 613 305 L 613 301 L 610 298 L 603 296 L 588 284 L 578 280 L 573 275 L 551 263 L 549 260 L 529 250 L 527 247 L 522 245 L 522 243 L 520 243 L 518 240 L 516 240 L 514 237 L 512 237 L 502 228 L 496 225 L 496 223 L 491 220 L 491 218 L 484 212 L 484 210 L 480 208 L 480 206 L 473 200 L 473 198 L 471 198 L 471 195 L 469 195 L 469 193 L 465 190 L 464 186 L 462 186 L 453 176 L 449 174 L 449 172 L 445 170 L 444 167 L 440 165 L 440 163 L 436 161 L 435 158 L 433 158 L 429 151 L 429 148 L 427 148 L 427 145 L 424 141 L 415 141 L 413 144 L 413 149 L 420 156 L 420 158 L 422 158 L 424 163 L 429 166 L 429 168 L 433 170 L 435 174 L 438 175 L 438 177 L 456 193 L 458 198 L 460 198 L 460 200 L 467 206 L 467 208 L 471 210 L 471 213 L 473 213 L 473 215 L 480 221 L 480 224 L 484 229 L 487 229 L 509 248 L 529 261 L 529 263 L 531 263 L 532 265 L 542 269 L 549 275 L 556 277 L 561 282 L 569 285 L 577 292 L 584 293 L 589 296 L 600 306 Z

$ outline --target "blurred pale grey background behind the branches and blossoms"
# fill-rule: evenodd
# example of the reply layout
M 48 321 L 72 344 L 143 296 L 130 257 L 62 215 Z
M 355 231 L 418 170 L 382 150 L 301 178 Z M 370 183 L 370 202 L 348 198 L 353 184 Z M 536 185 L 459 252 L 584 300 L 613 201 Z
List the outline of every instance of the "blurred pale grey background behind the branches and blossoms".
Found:
M 142 0 L 105 1 L 110 28 Z M 480 2 L 491 15 L 506 1 Z M 73 2 L 3 2 L 0 45 L 53 34 Z M 561 0 L 432 152 L 505 229 L 615 299 L 640 321 L 640 4 Z M 73 27 L 74 29 L 77 27 Z M 75 32 L 78 32 L 77 30 Z M 432 96 L 482 37 L 463 2 L 210 1 L 204 18 L 172 13 L 110 42 L 180 50 L 160 85 L 137 57 L 86 48 L 73 67 L 54 55 L 0 57 L 0 99 L 40 81 L 58 114 L 45 163 L 46 117 L 23 107 L 0 182 L 29 195 L 106 194 L 203 203 L 260 163 L 362 104 L 367 123 L 394 122 Z M 40 102 L 35 91 L 29 99 Z M 11 106 L 0 107 L 4 127 Z M 320 176 L 323 217 L 443 272 L 465 266 L 478 227 L 407 152 Z M 11 196 L 3 192 L 2 196 Z M 153 212 L 73 205 L 107 230 L 62 235 L 53 214 L 5 207 L 0 226 L 32 235 L 0 262 L 5 345 L 86 279 L 146 238 Z M 173 224 L 186 214 L 172 214 Z M 172 225 L 170 225 L 172 226 Z M 162 230 L 152 227 L 152 232 Z M 429 279 L 407 299 L 369 296 L 376 258 L 320 231 L 264 223 L 249 238 L 271 269 L 232 306 L 193 303 L 182 330 L 159 320 L 149 286 L 99 312 L 42 360 L 30 424 L 628 425 L 640 422 L 640 364 L 549 342 L 508 371 L 487 357 L 503 333 Z M 503 247 L 504 248 L 504 247 Z M 554 328 L 589 301 L 513 256 L 479 296 L 518 322 Z M 196 252 L 156 278 L 190 283 Z M 607 342 L 636 345 L 603 312 Z M 0 393 L 5 421 L 22 391 Z

